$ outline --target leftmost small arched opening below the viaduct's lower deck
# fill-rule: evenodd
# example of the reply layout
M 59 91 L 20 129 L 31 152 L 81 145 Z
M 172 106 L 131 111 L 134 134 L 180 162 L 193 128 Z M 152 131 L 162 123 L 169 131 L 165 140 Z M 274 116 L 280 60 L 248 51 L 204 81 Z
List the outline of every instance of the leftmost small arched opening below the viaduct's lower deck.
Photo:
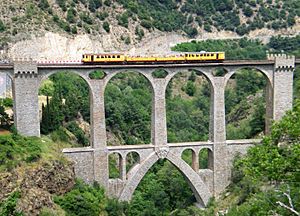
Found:
M 108 155 L 108 170 L 110 179 L 122 179 L 123 163 L 120 153 L 113 152 Z

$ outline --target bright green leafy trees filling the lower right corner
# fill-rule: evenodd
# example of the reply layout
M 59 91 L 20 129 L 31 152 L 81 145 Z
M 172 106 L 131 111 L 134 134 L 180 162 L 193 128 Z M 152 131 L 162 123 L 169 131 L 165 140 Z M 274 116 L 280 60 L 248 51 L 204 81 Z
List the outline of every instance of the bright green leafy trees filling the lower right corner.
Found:
M 261 145 L 236 159 L 227 215 L 294 215 L 291 209 L 299 214 L 299 120 L 298 100 L 293 110 L 273 125 L 271 135 Z

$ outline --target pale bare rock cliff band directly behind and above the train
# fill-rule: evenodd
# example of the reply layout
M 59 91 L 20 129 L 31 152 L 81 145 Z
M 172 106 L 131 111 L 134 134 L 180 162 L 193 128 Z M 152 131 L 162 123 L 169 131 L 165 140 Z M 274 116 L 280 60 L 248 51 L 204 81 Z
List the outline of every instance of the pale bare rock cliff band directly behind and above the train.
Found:
M 112 30 L 113 31 L 113 30 Z M 300 19 L 296 25 L 288 30 L 274 31 L 260 29 L 250 32 L 249 38 L 257 38 L 267 42 L 271 36 L 293 36 L 300 32 Z M 204 33 L 196 40 L 205 39 L 232 39 L 239 38 L 236 33 L 229 31 Z M 193 40 L 195 40 L 193 39 Z M 81 34 L 74 37 L 59 33 L 47 32 L 44 36 L 19 41 L 11 44 L 8 50 L 11 58 L 33 58 L 35 60 L 80 60 L 83 53 L 125 52 L 131 55 L 167 54 L 176 43 L 190 41 L 191 39 L 179 33 L 165 33 L 153 31 L 136 44 L 126 45 L 117 40 L 114 34 L 102 36 L 89 36 Z

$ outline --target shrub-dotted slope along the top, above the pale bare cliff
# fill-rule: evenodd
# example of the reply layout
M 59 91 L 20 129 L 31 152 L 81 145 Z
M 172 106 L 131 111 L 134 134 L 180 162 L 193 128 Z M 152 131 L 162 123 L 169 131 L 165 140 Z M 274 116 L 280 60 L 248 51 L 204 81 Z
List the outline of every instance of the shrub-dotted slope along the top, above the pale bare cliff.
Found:
M 29 0 L 9 6 L 3 2 L 0 7 L 0 47 L 13 39 L 11 35 L 23 37 L 25 31 L 105 34 L 116 25 L 114 20 L 135 34 L 133 38 L 126 31 L 120 35 L 120 41 L 129 44 L 153 29 L 189 37 L 220 30 L 245 35 L 255 29 L 291 27 L 300 16 L 297 0 Z

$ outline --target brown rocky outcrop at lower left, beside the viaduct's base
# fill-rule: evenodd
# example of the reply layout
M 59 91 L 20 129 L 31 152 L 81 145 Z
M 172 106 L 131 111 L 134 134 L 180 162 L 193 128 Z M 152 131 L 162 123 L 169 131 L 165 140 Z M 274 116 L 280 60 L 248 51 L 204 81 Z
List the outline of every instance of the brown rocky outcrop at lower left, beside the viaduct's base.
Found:
M 31 167 L 19 167 L 0 173 L 0 203 L 13 192 L 20 194 L 16 210 L 25 215 L 39 215 L 42 208 L 54 208 L 53 195 L 61 195 L 75 184 L 70 162 L 48 161 Z

